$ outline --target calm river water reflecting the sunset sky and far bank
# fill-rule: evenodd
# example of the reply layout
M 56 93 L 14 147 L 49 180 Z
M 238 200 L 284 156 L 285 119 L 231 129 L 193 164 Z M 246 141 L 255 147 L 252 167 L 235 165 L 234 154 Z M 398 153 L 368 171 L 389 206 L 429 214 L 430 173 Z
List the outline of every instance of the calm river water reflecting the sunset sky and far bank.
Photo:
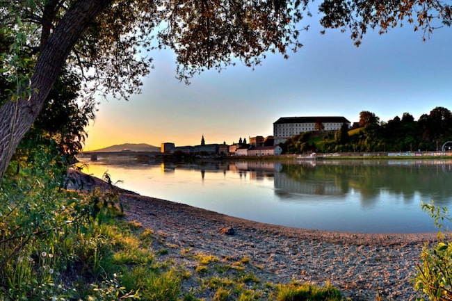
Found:
M 83 161 L 83 160 L 81 160 Z M 138 163 L 99 158 L 118 186 L 275 225 L 362 233 L 436 231 L 421 202 L 452 203 L 452 160 Z

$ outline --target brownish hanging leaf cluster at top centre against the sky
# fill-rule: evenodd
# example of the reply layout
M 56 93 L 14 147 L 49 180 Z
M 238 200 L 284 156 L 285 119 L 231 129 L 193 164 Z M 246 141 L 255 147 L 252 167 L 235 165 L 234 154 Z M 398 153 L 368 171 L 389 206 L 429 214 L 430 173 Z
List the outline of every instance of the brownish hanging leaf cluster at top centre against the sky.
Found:
M 162 44 L 175 49 L 179 79 L 204 68 L 221 70 L 243 60 L 259 65 L 266 53 L 297 51 L 299 22 L 309 1 L 165 1 Z M 309 11 L 307 13 L 309 14 Z M 305 28 L 306 29 L 306 28 Z

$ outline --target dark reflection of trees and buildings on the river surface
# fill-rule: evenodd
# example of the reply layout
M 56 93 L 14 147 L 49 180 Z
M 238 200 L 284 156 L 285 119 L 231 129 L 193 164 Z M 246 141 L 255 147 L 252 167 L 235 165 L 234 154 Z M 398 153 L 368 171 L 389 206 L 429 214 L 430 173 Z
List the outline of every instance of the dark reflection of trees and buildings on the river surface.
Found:
M 107 160 L 107 165 L 130 165 L 133 161 Z M 155 163 L 157 164 L 157 163 Z M 369 161 L 206 161 L 159 163 L 162 172 L 199 170 L 200 179 L 209 173 L 232 173 L 250 181 L 272 180 L 281 201 L 315 202 L 308 196 L 346 200 L 359 195 L 362 206 L 372 206 L 385 195 L 401 197 L 410 204 L 415 198 L 435 200 L 440 206 L 452 201 L 452 160 Z M 134 165 L 146 168 L 147 165 Z

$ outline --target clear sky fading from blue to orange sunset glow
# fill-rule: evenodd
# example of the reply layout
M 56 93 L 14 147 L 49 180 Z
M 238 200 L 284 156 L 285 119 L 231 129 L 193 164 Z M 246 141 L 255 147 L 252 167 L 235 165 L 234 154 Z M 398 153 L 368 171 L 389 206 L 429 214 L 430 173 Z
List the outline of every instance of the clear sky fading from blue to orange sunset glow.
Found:
M 305 20 L 304 45 L 284 60 L 268 54 L 252 70 L 238 63 L 209 70 L 186 86 L 175 78 L 170 50 L 151 53 L 154 70 L 129 101 L 102 100 L 86 129 L 84 149 L 122 143 L 199 145 L 238 143 L 273 135 L 280 117 L 344 116 L 358 122 L 371 111 L 387 122 L 407 112 L 417 120 L 433 108 L 452 111 L 452 29 L 437 29 L 426 42 L 411 26 L 384 35 L 370 31 L 360 47 L 350 33 Z M 100 100 L 100 99 L 99 99 Z

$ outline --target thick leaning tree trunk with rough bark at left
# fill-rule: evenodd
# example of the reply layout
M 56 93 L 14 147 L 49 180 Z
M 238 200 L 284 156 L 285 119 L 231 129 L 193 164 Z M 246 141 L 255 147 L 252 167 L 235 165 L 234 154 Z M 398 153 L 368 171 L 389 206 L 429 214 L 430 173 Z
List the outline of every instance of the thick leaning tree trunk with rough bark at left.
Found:
M 79 0 L 56 26 L 44 45 L 31 77 L 31 99 L 7 101 L 0 108 L 0 184 L 6 168 L 31 124 L 45 104 L 51 86 L 65 64 L 67 56 L 92 19 L 104 11 L 113 0 Z

